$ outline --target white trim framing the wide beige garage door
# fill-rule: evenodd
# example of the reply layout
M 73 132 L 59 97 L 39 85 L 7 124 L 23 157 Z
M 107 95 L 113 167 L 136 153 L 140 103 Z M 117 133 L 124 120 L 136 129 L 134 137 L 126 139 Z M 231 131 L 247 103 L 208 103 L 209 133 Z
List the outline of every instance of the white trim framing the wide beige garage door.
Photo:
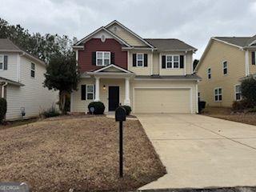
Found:
M 190 114 L 193 114 L 193 95 L 192 95 L 192 86 L 178 86 L 178 87 L 175 87 L 175 86 L 171 86 L 171 87 L 168 87 L 168 86 L 162 86 L 162 87 L 159 87 L 159 86 L 150 86 L 150 87 L 146 87 L 146 86 L 135 86 L 134 89 L 133 89 L 133 109 L 134 109 L 134 113 L 136 113 L 136 110 L 135 110 L 135 89 L 138 90 L 138 89 L 149 89 L 149 90 L 190 90 Z

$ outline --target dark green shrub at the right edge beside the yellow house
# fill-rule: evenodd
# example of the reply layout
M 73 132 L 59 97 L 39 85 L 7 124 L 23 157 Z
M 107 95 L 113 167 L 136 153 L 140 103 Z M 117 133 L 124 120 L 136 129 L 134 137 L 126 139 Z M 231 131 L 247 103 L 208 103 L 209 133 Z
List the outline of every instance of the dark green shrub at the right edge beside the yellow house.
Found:
M 256 106 L 256 79 L 246 78 L 241 83 L 242 98 Z

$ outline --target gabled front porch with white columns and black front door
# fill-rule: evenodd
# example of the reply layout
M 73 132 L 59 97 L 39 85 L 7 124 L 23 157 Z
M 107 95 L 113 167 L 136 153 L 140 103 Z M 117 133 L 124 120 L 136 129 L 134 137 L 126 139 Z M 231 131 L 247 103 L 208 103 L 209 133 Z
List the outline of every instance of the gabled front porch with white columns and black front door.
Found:
M 78 90 L 71 94 L 71 112 L 87 112 L 90 102 L 99 101 L 104 103 L 105 112 L 119 105 L 130 106 L 133 78 L 134 73 L 114 65 L 82 74 Z

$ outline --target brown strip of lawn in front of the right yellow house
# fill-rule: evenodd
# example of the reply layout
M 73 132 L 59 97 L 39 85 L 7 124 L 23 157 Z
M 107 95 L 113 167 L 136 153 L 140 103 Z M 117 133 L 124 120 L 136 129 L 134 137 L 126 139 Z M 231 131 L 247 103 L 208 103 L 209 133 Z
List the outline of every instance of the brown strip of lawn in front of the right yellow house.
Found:
M 256 126 L 256 114 L 233 114 L 230 108 L 225 107 L 206 107 L 204 115 L 222 118 L 233 122 L 242 122 Z

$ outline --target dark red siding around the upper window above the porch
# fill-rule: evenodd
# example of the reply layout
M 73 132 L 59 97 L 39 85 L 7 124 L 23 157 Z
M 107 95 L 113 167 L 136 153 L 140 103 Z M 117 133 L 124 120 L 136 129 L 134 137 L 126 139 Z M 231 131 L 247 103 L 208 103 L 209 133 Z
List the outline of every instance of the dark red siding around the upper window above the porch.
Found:
M 94 66 L 92 64 L 92 52 L 96 51 L 113 52 L 114 64 L 127 69 L 127 51 L 122 51 L 122 45 L 113 38 L 106 38 L 105 42 L 102 42 L 100 38 L 92 38 L 84 46 L 84 50 L 78 50 L 78 64 L 81 72 L 101 68 L 101 66 Z

